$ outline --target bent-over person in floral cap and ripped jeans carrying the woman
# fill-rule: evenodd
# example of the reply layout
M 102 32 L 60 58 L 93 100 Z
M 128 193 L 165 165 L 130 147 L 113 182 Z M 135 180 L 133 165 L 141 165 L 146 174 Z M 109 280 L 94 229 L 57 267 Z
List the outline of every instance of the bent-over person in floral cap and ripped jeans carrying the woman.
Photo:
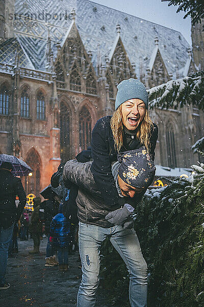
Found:
M 118 153 L 118 162 L 112 166 L 112 175 L 120 201 L 113 206 L 101 197 L 91 172 L 91 164 L 70 160 L 66 162 L 63 171 L 63 181 L 67 188 L 70 182 L 79 186 L 76 203 L 82 282 L 77 307 L 95 306 L 95 293 L 99 284 L 99 251 L 107 237 L 129 271 L 131 306 L 146 307 L 147 265 L 133 229 L 132 213 L 138 203 L 136 196 L 143 195 L 151 184 L 156 167 L 144 146 Z

